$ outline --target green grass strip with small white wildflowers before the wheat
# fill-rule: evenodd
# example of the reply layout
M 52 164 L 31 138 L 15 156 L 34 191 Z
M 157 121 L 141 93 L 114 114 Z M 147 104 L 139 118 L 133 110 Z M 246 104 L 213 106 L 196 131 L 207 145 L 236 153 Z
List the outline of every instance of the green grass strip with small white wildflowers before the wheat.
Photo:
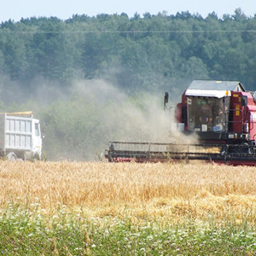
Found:
M 65 206 L 44 214 L 37 203 L 20 209 L 9 202 L 0 214 L 0 255 L 256 255 L 256 233 L 246 218 L 89 219 Z

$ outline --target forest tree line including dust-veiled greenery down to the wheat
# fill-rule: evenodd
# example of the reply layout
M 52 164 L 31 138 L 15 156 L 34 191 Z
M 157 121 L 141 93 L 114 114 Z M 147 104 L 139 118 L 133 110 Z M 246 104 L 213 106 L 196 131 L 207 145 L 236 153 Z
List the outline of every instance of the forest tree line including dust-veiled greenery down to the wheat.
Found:
M 136 106 L 147 115 L 147 99 L 169 91 L 178 100 L 193 79 L 237 80 L 256 90 L 255 42 L 256 15 L 241 9 L 221 18 L 160 12 L 7 20 L 0 25 L 0 107 L 33 108 L 48 127 L 51 155 L 73 147 L 78 159 L 90 159 L 98 150 L 92 145 L 127 137 L 116 109 Z M 139 118 L 138 130 L 141 122 L 147 119 Z

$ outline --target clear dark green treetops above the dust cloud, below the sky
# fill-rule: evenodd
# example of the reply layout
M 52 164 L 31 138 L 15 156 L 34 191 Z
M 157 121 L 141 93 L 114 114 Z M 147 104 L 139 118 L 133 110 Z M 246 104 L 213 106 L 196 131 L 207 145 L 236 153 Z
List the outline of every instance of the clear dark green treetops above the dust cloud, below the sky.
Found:
M 128 92 L 161 90 L 178 84 L 169 81 L 196 77 L 239 79 L 253 90 L 255 27 L 255 18 L 241 9 L 205 19 L 162 12 L 131 19 L 102 14 L 8 20 L 0 26 L 0 69 L 25 88 L 37 86 L 31 83 L 38 76 L 67 84 L 73 78 L 112 79 Z M 158 84 L 162 76 L 166 83 Z

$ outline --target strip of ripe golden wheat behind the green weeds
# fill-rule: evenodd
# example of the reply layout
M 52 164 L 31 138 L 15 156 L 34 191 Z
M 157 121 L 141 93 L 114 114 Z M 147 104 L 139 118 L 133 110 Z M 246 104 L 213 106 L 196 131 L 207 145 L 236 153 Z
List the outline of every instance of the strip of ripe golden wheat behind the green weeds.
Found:
M 66 206 L 89 217 L 216 219 L 254 223 L 256 168 L 190 163 L 0 163 L 0 210 L 40 203 L 44 214 Z

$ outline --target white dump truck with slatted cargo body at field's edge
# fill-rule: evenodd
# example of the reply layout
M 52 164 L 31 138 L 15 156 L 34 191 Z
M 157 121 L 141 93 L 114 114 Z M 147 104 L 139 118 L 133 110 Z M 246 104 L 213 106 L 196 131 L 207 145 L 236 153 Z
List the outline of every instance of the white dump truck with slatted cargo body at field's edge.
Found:
M 32 112 L 0 113 L 0 156 L 9 161 L 42 156 L 42 135 Z

